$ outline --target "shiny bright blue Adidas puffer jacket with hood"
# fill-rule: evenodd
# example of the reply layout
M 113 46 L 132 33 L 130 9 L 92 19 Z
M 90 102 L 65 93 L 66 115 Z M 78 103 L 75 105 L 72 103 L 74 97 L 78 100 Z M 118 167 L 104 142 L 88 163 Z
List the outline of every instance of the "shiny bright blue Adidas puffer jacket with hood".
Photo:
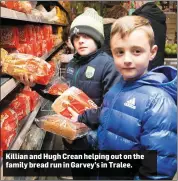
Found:
M 177 70 L 159 67 L 134 82 L 121 81 L 105 95 L 98 128 L 100 150 L 156 150 L 157 175 L 177 169 Z M 143 170 L 144 166 L 139 170 Z M 149 170 L 149 169 L 148 169 Z

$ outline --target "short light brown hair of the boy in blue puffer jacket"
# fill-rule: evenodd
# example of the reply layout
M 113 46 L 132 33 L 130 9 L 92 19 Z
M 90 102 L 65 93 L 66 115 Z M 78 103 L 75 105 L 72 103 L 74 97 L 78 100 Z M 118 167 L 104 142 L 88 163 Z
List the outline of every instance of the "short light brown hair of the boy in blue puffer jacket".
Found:
M 136 29 L 143 29 L 148 36 L 150 47 L 154 45 L 154 32 L 148 19 L 141 16 L 124 16 L 117 19 L 111 28 L 111 39 L 118 33 L 123 39 Z

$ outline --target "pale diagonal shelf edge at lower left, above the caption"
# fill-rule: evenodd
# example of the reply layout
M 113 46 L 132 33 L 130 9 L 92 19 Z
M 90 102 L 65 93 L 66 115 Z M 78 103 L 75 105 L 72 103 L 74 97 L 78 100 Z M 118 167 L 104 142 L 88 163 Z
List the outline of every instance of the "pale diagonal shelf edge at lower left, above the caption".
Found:
M 29 131 L 40 107 L 41 107 L 41 104 L 42 104 L 42 99 L 39 101 L 39 103 L 37 104 L 36 108 L 34 109 L 34 111 L 31 112 L 30 116 L 28 117 L 28 119 L 26 120 L 26 123 L 25 125 L 23 126 L 22 130 L 20 131 L 18 137 L 16 138 L 16 140 L 14 141 L 13 145 L 11 146 L 11 150 L 19 150 L 23 141 L 24 141 L 24 138 L 25 138 L 25 135 L 26 133 Z

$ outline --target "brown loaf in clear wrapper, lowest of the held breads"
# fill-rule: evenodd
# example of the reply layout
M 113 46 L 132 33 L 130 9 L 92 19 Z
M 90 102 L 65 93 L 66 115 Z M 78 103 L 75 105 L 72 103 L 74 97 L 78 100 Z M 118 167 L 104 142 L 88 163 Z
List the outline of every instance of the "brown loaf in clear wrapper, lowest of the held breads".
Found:
M 71 122 L 70 119 L 57 114 L 43 116 L 35 119 L 35 122 L 41 129 L 69 140 L 81 138 L 89 131 L 89 128 L 85 124 Z

